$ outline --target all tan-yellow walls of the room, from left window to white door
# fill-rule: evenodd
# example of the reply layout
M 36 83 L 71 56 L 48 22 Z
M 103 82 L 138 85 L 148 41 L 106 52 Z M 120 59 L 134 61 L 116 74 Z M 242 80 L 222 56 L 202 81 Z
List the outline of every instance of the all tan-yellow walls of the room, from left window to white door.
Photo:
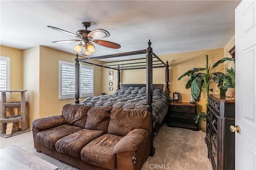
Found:
M 205 67 L 205 55 L 209 56 L 209 64 L 213 64 L 223 57 L 231 57 L 228 51 L 234 46 L 234 37 L 224 48 L 209 49 L 203 51 L 192 51 L 187 53 L 176 53 L 159 55 L 163 61 L 169 62 L 169 96 L 177 91 L 180 93 L 180 101 L 189 102 L 191 89 L 186 89 L 189 77 L 178 77 L 185 71 L 194 67 Z M 40 117 L 61 114 L 63 105 L 74 103 L 74 99 L 58 99 L 58 61 L 74 62 L 75 55 L 51 49 L 44 46 L 37 46 L 30 49 L 19 50 L 10 47 L 0 46 L 1 55 L 11 57 L 11 89 L 26 89 L 26 119 L 27 127 L 32 126 L 32 121 Z M 212 71 L 224 72 L 224 67 L 230 63 L 218 65 Z M 231 63 L 232 65 L 232 63 Z M 90 65 L 92 66 L 92 65 Z M 233 67 L 233 66 L 232 66 Z M 153 83 L 165 84 L 165 68 L 153 69 Z M 114 71 L 114 80 L 108 80 L 108 71 Z M 94 95 L 113 94 L 117 88 L 117 71 L 94 67 Z M 109 82 L 113 86 L 109 86 Z M 146 69 L 121 71 L 121 84 L 144 84 L 146 83 Z M 113 91 L 109 91 L 113 87 Z M 210 84 L 213 88 L 212 94 L 219 94 L 217 84 L 213 81 Z M 163 86 L 164 89 L 164 86 Z M 84 98 L 80 98 L 80 102 Z M 20 100 L 19 94 L 11 94 L 11 101 Z M 198 103 L 198 111 L 204 111 L 204 86 L 201 93 L 201 100 Z M 8 109 L 9 114 L 12 111 Z

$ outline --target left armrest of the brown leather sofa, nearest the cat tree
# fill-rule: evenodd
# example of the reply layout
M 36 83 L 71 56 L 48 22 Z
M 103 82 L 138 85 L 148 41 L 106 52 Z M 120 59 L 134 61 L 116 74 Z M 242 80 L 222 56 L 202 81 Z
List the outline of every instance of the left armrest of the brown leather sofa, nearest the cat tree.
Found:
M 45 130 L 45 129 L 57 127 L 63 124 L 65 124 L 65 118 L 62 115 L 43 117 L 43 118 L 35 119 L 32 122 L 33 127 L 37 128 L 38 130 Z

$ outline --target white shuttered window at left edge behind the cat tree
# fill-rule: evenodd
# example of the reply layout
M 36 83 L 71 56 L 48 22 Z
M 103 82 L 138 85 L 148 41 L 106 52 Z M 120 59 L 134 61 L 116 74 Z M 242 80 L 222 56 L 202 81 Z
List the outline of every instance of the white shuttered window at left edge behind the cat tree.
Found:
M 0 90 L 10 90 L 10 57 L 0 56 Z M 10 100 L 10 93 L 6 99 Z

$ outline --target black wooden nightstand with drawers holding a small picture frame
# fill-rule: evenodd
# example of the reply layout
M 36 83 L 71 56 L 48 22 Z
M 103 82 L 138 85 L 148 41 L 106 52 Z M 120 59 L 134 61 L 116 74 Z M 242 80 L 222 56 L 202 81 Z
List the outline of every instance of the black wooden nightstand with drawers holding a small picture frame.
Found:
M 198 131 L 195 123 L 196 103 L 169 103 L 168 127 L 185 127 Z

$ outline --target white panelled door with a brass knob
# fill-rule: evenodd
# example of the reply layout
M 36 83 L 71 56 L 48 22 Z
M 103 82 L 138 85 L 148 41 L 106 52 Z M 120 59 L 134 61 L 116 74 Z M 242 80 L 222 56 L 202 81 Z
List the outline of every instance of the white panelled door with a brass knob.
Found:
M 236 169 L 256 170 L 256 1 L 235 10 Z

